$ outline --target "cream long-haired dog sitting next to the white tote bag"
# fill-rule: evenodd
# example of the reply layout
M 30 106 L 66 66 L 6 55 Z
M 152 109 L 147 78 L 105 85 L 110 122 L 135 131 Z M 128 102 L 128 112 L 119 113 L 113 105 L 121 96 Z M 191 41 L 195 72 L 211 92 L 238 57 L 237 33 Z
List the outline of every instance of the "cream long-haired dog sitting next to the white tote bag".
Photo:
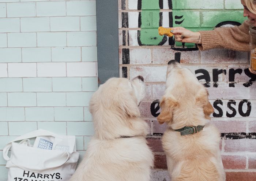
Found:
M 153 153 L 147 123 L 138 106 L 145 94 L 142 76 L 111 78 L 90 101 L 94 137 L 70 181 L 149 181 Z

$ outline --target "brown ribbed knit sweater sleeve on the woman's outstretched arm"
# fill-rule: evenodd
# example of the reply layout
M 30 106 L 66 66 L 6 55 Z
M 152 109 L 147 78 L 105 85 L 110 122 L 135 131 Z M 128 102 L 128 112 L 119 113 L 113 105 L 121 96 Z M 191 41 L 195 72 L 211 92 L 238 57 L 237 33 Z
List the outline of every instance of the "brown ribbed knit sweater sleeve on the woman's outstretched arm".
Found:
M 240 26 L 215 28 L 211 31 L 199 31 L 202 44 L 199 50 L 211 48 L 226 48 L 236 51 L 249 50 L 249 20 L 245 20 Z

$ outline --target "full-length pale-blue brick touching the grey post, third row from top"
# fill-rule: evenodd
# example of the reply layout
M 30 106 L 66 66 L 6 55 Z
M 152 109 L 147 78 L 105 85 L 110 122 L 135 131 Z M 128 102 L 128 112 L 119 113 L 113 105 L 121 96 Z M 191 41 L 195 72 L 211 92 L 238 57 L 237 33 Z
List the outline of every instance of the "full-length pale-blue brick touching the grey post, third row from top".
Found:
M 67 32 L 68 46 L 96 46 L 96 32 Z

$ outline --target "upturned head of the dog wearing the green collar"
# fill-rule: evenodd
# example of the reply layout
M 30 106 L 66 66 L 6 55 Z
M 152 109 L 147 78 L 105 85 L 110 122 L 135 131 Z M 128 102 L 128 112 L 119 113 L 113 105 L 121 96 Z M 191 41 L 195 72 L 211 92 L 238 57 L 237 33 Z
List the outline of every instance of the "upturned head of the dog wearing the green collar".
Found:
M 210 119 L 210 114 L 214 112 L 206 88 L 188 68 L 175 60 L 168 63 L 166 90 L 160 107 L 159 123 L 172 125 L 200 125 L 202 120 Z

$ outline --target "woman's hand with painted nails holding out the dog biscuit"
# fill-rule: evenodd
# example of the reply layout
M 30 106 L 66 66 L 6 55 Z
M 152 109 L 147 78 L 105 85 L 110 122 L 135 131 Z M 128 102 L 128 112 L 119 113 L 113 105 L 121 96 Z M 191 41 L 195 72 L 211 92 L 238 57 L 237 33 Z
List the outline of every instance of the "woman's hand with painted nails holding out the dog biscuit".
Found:
M 202 44 L 200 32 L 193 32 L 183 27 L 173 27 L 171 32 L 177 42 Z

